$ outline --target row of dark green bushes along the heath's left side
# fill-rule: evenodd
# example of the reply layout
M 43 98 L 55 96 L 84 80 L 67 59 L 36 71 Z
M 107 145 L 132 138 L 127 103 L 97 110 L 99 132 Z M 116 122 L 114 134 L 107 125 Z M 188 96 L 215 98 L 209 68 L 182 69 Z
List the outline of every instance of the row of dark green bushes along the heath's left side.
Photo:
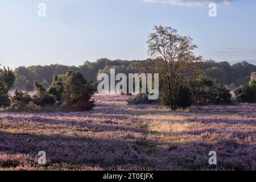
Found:
M 7 76 L 6 76 L 7 75 Z M 79 72 L 69 71 L 63 81 L 57 75 L 53 75 L 51 86 L 46 89 L 35 81 L 36 94 L 30 96 L 27 92 L 15 90 L 14 96 L 9 96 L 9 90 L 14 84 L 14 73 L 10 69 L 4 69 L 0 79 L 0 106 L 6 107 L 6 111 L 40 111 L 44 107 L 52 107 L 52 111 L 83 111 L 90 110 L 94 106 L 91 97 L 94 88 Z

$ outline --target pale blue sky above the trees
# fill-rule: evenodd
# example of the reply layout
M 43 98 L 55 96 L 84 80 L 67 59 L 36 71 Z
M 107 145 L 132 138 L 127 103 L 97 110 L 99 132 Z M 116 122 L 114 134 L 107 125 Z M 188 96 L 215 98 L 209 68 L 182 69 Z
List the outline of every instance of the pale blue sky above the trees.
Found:
M 209 16 L 211 2 L 217 17 Z M 256 60 L 255 9 L 255 0 L 0 0 L 0 64 L 144 60 L 159 25 L 191 36 L 204 59 Z

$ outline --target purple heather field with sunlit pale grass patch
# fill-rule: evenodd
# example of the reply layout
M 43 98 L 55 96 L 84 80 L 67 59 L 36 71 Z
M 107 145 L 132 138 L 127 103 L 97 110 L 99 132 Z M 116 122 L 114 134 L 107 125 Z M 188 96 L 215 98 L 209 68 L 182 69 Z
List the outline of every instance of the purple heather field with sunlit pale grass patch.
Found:
M 170 111 L 94 98 L 84 113 L 0 113 L 0 169 L 256 170 L 256 104 Z

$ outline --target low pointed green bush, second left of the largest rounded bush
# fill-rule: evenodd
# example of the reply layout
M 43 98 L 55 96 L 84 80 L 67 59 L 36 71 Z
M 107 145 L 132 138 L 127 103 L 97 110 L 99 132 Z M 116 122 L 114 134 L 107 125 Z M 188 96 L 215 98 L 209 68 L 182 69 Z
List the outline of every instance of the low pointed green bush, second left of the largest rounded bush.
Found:
M 35 94 L 35 96 L 33 96 L 33 101 L 36 105 L 43 107 L 55 104 L 55 96 L 49 94 L 43 85 L 35 82 L 35 88 L 37 90 L 37 93 Z

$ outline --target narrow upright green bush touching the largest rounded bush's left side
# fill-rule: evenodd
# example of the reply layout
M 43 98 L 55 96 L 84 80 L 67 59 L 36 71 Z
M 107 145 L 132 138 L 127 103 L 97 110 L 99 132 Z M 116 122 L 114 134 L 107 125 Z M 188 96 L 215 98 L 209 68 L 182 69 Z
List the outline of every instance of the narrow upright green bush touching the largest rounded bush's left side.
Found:
M 48 89 L 48 93 L 55 96 L 56 101 L 59 102 L 62 98 L 64 91 L 63 80 L 56 74 L 53 75 L 52 84 Z

